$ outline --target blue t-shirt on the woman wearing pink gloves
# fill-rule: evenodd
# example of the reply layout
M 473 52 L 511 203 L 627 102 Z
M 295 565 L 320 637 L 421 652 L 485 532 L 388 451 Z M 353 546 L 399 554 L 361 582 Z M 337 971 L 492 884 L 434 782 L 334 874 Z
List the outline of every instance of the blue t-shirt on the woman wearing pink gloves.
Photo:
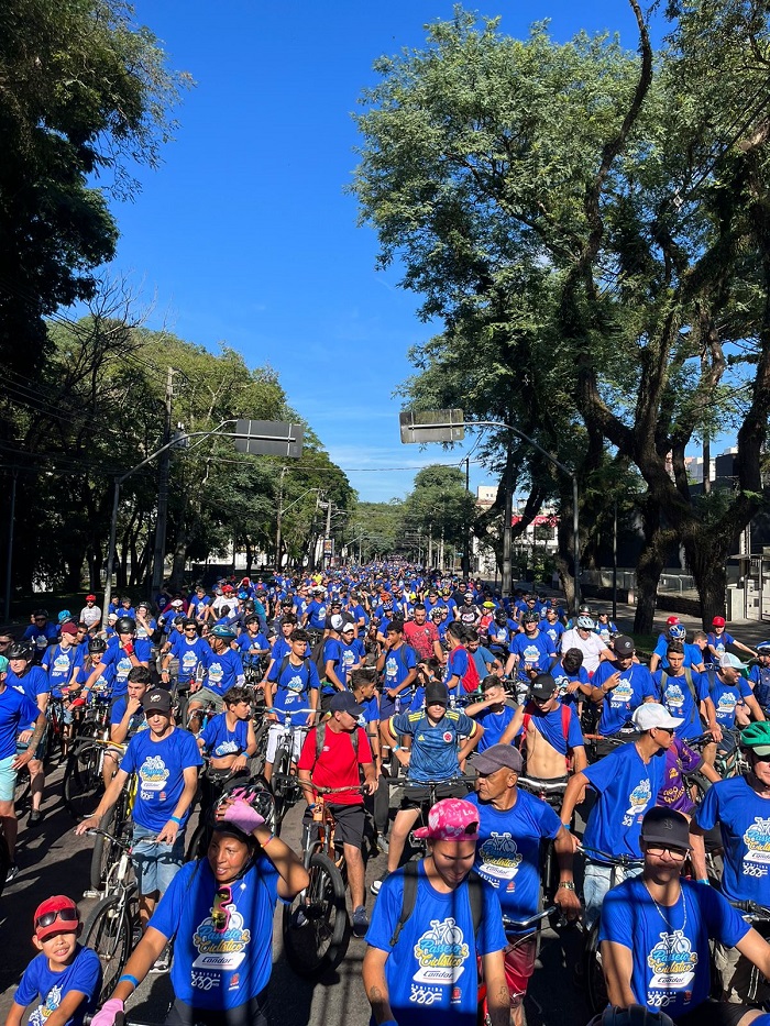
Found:
M 188 862 L 172 880 L 150 925 L 176 938 L 174 995 L 195 1008 L 223 1011 L 245 1004 L 267 985 L 278 873 L 263 854 L 231 885 L 223 929 L 212 918 L 217 886 L 208 859 Z

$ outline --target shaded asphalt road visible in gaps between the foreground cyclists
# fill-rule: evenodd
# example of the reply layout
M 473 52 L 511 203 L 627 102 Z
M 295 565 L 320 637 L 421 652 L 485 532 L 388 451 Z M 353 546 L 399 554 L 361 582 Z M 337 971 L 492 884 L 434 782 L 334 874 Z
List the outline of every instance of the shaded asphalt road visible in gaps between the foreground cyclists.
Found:
M 21 872 L 0 900 L 0 1023 L 4 1022 L 21 973 L 35 955 L 31 940 L 35 907 L 52 894 L 65 893 L 80 900 L 88 887 L 92 841 L 75 836 L 62 802 L 61 779 L 59 768 L 48 780 L 42 825 L 28 829 L 26 815 L 21 818 Z M 299 847 L 300 818 L 300 810 L 293 809 L 282 835 L 295 849 Z M 382 854 L 369 862 L 367 884 L 384 870 L 384 863 Z M 81 911 L 86 913 L 91 904 L 89 900 L 80 901 Z M 590 1018 L 581 993 L 572 984 L 579 947 L 580 936 L 574 929 L 561 936 L 543 934 L 538 969 L 525 1005 L 529 1026 L 584 1026 Z M 338 970 L 314 983 L 301 980 L 284 958 L 278 911 L 273 940 L 272 1026 L 366 1026 L 369 1003 L 361 982 L 364 950 L 365 944 L 352 938 Z M 135 1023 L 163 1023 L 172 1000 L 168 975 L 151 974 L 132 996 L 131 1018 Z M 426 1013 L 427 1022 L 428 1016 Z

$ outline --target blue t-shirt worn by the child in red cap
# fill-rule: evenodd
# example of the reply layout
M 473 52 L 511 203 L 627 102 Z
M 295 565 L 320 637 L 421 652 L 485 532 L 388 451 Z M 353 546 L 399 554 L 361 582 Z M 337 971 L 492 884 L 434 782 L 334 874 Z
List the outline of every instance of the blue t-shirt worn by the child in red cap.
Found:
M 85 1015 L 92 1015 L 97 1010 L 97 999 L 101 989 L 101 962 L 96 951 L 77 945 L 75 958 L 64 972 L 52 972 L 48 957 L 43 951 L 32 959 L 24 970 L 19 988 L 13 995 L 18 1005 L 26 1007 L 40 1000 L 36 1008 L 30 1013 L 30 1026 L 45 1026 L 52 1012 L 55 1012 L 64 997 L 78 991 L 85 1000 L 77 1012 L 65 1022 L 65 1026 L 80 1026 Z

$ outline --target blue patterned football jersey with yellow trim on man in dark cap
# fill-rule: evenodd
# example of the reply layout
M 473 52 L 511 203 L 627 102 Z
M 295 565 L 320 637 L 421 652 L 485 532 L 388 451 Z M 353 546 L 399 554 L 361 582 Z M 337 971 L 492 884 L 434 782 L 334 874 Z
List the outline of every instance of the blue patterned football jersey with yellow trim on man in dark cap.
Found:
M 417 783 L 459 776 L 458 738 L 472 738 L 477 729 L 460 709 L 447 709 L 438 724 L 431 724 L 425 713 L 398 713 L 391 717 L 395 737 L 411 738 L 407 777 Z

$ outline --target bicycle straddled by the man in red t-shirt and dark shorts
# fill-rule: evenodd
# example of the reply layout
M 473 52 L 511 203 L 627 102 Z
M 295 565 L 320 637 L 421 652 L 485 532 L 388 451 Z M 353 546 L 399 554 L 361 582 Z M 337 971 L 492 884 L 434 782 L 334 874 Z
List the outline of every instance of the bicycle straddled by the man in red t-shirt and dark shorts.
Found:
M 312 790 L 316 793 L 312 820 L 302 830 L 302 861 L 310 883 L 290 905 L 284 905 L 282 919 L 286 959 L 296 973 L 306 978 L 336 969 L 350 944 L 344 854 L 334 839 L 334 816 L 326 796 L 362 791 L 361 787 Z

